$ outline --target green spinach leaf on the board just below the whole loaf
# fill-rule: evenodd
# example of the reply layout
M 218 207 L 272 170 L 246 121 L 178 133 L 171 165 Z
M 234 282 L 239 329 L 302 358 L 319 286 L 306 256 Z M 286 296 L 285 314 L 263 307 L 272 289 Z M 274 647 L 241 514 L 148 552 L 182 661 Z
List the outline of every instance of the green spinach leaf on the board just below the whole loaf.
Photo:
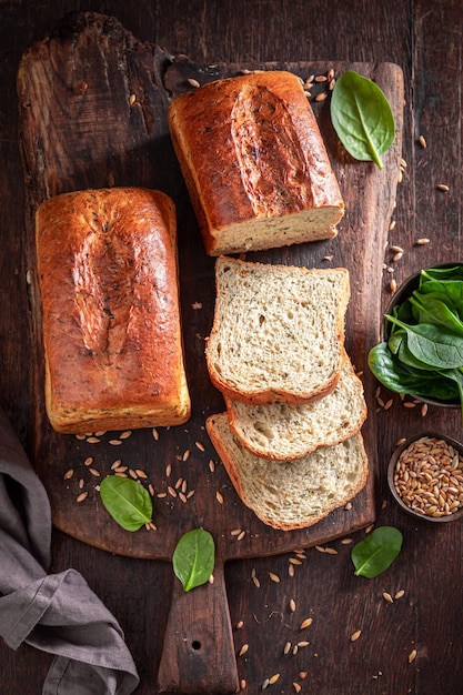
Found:
M 125 531 L 138 531 L 152 521 L 150 493 L 130 477 L 107 475 L 100 484 L 100 496 L 105 510 Z

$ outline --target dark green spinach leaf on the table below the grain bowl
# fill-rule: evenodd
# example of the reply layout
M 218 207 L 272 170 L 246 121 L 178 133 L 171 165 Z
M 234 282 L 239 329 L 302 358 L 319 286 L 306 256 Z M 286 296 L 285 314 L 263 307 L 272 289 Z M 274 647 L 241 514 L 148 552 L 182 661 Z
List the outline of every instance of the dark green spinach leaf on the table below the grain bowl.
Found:
M 402 533 L 393 526 L 379 526 L 351 551 L 355 576 L 369 580 L 382 574 L 392 565 L 402 550 Z

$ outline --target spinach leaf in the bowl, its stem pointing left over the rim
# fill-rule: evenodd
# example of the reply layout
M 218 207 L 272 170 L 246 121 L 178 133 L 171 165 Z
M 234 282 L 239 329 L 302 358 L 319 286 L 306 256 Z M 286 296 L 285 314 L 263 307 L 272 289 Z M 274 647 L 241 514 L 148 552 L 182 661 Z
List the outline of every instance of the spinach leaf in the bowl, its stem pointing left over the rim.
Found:
M 463 364 L 463 336 L 431 323 L 409 325 L 390 314 L 386 318 L 406 331 L 410 352 L 422 362 L 437 369 L 452 369 Z

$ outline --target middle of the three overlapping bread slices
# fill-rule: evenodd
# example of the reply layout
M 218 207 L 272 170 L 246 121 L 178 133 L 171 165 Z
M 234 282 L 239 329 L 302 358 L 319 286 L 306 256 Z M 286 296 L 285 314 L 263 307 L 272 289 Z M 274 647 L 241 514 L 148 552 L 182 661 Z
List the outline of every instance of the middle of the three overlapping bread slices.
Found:
M 361 429 L 366 417 L 363 384 L 345 355 L 333 393 L 309 405 L 248 405 L 225 399 L 230 427 L 262 459 L 293 460 L 333 446 Z

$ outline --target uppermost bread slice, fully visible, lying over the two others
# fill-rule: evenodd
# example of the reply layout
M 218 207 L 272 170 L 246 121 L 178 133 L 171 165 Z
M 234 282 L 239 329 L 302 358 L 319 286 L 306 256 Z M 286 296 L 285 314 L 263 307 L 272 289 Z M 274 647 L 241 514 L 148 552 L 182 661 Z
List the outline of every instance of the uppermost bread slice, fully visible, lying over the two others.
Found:
M 256 405 L 310 403 L 331 393 L 344 354 L 349 272 L 215 262 L 217 299 L 205 355 L 212 383 Z

